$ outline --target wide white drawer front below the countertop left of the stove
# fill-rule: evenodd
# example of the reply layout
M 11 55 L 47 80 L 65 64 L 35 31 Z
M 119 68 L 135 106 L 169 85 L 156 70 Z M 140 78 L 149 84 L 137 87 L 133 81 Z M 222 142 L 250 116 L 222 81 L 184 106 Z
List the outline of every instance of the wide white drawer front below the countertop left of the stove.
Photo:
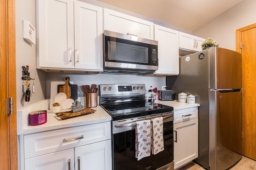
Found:
M 111 139 L 109 122 L 24 135 L 24 158 Z

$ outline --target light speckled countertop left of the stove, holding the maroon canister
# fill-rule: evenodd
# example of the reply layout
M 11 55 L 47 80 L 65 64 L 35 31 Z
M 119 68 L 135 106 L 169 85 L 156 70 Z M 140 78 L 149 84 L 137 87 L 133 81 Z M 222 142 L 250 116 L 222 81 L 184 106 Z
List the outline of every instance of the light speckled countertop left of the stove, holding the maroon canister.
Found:
M 52 113 L 51 110 L 48 110 L 48 100 L 43 100 L 30 107 L 26 107 L 17 111 L 17 134 L 26 135 L 42 131 L 111 121 L 112 117 L 101 106 L 97 106 L 92 109 L 95 109 L 96 111 L 88 115 L 82 115 L 62 120 L 56 116 L 55 113 Z M 37 110 L 48 110 L 47 122 L 42 125 L 31 126 L 29 125 L 29 113 L 31 111 Z

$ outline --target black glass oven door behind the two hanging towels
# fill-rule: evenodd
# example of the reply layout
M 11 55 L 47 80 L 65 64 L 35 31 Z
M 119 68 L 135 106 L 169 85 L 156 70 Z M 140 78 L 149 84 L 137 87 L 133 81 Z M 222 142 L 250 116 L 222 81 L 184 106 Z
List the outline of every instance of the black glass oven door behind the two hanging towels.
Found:
M 126 121 L 113 122 L 117 129 L 117 133 L 113 131 L 112 134 L 114 170 L 173 170 L 173 115 L 164 120 L 164 150 L 156 155 L 151 153 L 150 156 L 139 161 L 135 158 L 135 126 L 129 126 Z

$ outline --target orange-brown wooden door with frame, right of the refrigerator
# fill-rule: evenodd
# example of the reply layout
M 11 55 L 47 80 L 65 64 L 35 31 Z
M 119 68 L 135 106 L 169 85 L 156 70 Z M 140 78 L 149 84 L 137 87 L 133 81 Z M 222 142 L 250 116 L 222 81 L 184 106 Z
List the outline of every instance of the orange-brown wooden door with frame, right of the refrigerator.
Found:
M 242 54 L 242 154 L 256 160 L 256 23 L 236 35 L 236 51 Z

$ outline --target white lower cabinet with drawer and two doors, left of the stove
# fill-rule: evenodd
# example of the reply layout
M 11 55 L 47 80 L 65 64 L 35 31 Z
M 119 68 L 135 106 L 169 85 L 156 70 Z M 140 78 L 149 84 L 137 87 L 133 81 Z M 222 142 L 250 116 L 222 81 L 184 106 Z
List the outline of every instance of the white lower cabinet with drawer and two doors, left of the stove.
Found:
M 21 170 L 111 170 L 110 122 L 20 136 Z

